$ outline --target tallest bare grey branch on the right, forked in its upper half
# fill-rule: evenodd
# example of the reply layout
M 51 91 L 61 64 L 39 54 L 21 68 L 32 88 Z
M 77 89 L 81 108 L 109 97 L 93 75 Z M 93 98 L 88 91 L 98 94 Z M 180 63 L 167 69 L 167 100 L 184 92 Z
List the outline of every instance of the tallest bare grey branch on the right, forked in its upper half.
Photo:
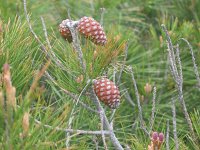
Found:
M 176 87 L 177 87 L 177 90 L 178 90 L 179 102 L 181 104 L 182 111 L 183 111 L 183 114 L 185 116 L 185 120 L 186 120 L 186 122 L 189 126 L 190 132 L 191 132 L 192 136 L 195 138 L 195 133 L 194 133 L 194 129 L 192 127 L 192 122 L 191 122 L 191 119 L 189 117 L 187 107 L 185 105 L 185 101 L 184 101 L 184 98 L 183 98 L 183 85 L 182 85 L 183 81 L 182 81 L 182 76 L 181 76 L 182 75 L 182 70 L 181 70 L 182 67 L 179 66 L 180 70 L 179 70 L 179 73 L 178 73 L 172 41 L 170 39 L 170 36 L 168 34 L 168 31 L 167 31 L 165 25 L 162 24 L 161 26 L 162 26 L 163 31 L 166 34 L 166 37 L 167 37 L 167 46 L 168 46 L 168 53 L 169 53 L 169 60 L 170 60 L 170 67 L 171 67 L 170 69 L 171 69 L 172 77 L 173 77 L 173 79 L 176 83 Z M 177 52 L 179 52 L 179 51 L 177 51 Z M 177 55 L 176 57 L 179 57 L 179 55 Z M 181 65 L 180 64 L 180 57 L 178 58 L 178 63 L 179 63 L 179 65 Z

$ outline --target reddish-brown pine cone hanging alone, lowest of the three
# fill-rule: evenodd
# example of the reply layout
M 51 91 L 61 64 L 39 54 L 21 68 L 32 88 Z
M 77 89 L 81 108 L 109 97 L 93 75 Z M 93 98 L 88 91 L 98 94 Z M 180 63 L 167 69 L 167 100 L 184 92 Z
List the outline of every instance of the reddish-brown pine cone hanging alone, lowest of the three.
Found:
M 116 109 L 120 104 L 120 92 L 116 85 L 107 78 L 100 78 L 94 81 L 94 91 L 105 105 Z

